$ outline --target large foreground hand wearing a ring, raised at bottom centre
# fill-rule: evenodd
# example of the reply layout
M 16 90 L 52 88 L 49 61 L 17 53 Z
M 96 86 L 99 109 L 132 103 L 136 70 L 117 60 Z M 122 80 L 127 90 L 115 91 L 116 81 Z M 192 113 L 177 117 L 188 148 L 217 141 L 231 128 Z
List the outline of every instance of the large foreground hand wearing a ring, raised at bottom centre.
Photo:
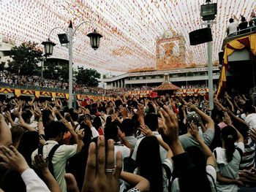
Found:
M 118 192 L 118 178 L 121 174 L 121 153 L 116 153 L 116 166 L 114 164 L 114 142 L 108 140 L 107 153 L 105 153 L 105 137 L 99 136 L 97 145 L 91 142 L 89 157 L 86 166 L 86 175 L 82 192 L 105 191 Z

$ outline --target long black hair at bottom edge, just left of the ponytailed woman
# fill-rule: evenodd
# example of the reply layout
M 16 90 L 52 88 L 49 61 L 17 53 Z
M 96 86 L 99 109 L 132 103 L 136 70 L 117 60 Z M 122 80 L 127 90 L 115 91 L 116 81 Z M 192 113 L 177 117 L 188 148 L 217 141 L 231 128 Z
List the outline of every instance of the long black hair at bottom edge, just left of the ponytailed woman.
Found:
M 200 191 L 211 191 L 211 185 L 206 174 L 206 157 L 203 154 L 203 151 L 199 147 L 193 146 L 187 148 L 187 154 L 189 155 L 189 158 L 192 161 L 192 164 L 194 164 L 196 170 L 191 178 L 191 183 L 193 183 L 194 186 L 197 184 L 200 185 Z M 184 189 L 184 185 L 188 184 L 189 183 L 183 183 L 181 180 L 181 189 Z

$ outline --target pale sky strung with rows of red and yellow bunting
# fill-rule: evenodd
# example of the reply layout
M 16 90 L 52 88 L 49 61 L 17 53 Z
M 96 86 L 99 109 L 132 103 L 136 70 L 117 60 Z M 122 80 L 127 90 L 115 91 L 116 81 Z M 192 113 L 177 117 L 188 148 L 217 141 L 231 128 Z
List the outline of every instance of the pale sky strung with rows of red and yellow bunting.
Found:
M 228 19 L 256 10 L 255 0 L 212 0 L 217 3 L 216 23 L 212 26 L 213 61 L 218 60 L 226 37 Z M 185 62 L 206 64 L 206 44 L 190 46 L 189 32 L 203 28 L 200 5 L 205 0 L 0 0 L 0 35 L 6 41 L 48 39 L 56 43 L 53 57 L 68 59 L 68 49 L 59 43 L 57 34 L 67 32 L 69 20 L 74 28 L 83 21 L 73 39 L 75 66 L 97 69 L 100 73 L 121 74 L 132 69 L 156 67 L 156 42 L 159 38 L 184 38 Z M 102 34 L 98 50 L 90 47 L 86 34 L 97 29 Z M 173 41 L 173 53 L 178 52 Z

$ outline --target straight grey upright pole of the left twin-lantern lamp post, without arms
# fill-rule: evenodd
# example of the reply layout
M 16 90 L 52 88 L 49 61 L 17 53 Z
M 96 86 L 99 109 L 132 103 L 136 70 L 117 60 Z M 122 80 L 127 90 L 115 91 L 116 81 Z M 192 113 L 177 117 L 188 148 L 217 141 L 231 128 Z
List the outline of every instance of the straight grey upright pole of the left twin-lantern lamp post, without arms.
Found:
M 73 59 L 73 28 L 72 23 L 69 23 L 69 108 L 72 108 L 72 89 L 73 89 L 73 71 L 72 71 L 72 59 Z

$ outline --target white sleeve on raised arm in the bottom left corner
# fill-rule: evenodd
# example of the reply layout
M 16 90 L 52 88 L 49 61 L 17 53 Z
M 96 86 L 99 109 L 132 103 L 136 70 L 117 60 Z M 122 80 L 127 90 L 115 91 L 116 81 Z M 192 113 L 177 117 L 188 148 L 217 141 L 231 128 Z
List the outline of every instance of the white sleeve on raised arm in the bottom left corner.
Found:
M 33 169 L 26 169 L 21 177 L 26 185 L 27 192 L 50 192 L 45 183 L 38 177 Z

